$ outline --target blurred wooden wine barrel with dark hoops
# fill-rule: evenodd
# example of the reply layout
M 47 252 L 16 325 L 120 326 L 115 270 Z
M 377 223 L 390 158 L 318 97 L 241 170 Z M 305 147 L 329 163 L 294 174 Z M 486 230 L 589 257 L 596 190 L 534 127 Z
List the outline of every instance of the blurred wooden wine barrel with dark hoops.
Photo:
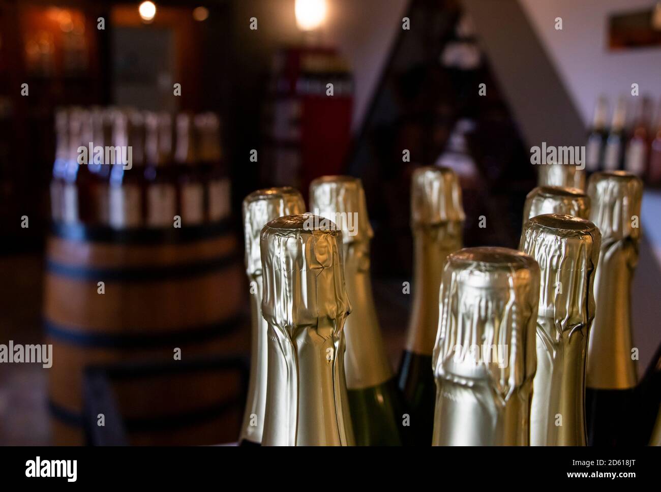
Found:
M 227 351 L 244 312 L 238 246 L 225 223 L 120 231 L 54 225 L 44 293 L 54 443 L 83 443 L 86 367 L 147 359 L 176 364 L 175 349 L 182 360 Z M 175 376 L 161 378 L 120 386 L 116 397 L 129 419 L 144 424 L 131 429 L 140 444 L 163 442 L 169 431 L 185 436 L 182 444 L 209 444 L 221 435 L 214 433 L 222 427 L 214 409 L 225 404 L 225 377 L 203 374 L 184 388 Z M 173 385 L 176 396 L 169 394 Z

